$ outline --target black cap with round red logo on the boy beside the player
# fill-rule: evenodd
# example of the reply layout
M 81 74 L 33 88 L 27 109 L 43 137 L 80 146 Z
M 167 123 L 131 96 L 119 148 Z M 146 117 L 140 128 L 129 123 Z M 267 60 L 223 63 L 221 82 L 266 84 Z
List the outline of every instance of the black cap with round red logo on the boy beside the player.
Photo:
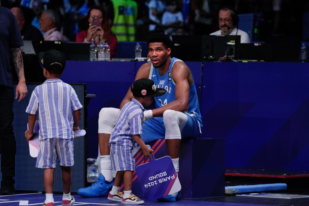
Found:
M 155 88 L 151 79 L 138 79 L 131 85 L 134 97 L 159 97 L 165 94 L 165 89 Z

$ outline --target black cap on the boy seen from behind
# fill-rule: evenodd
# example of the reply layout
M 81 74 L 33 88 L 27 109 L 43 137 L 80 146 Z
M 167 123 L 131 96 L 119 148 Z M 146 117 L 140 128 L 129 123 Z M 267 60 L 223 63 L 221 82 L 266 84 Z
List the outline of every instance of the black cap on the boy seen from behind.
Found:
M 41 63 L 43 67 L 50 71 L 53 67 L 53 65 L 59 65 L 59 69 L 62 71 L 64 70 L 64 67 L 66 66 L 66 57 L 64 54 L 62 54 L 60 51 L 57 50 L 49 50 L 47 52 L 40 52 L 39 58 L 41 60 Z

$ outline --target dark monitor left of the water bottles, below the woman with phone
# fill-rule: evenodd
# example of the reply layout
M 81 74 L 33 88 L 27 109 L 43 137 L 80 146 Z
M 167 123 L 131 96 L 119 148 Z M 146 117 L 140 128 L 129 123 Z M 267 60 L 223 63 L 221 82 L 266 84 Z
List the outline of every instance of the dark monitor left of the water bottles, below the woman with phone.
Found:
M 64 44 L 67 60 L 88 60 L 90 43 L 66 42 Z

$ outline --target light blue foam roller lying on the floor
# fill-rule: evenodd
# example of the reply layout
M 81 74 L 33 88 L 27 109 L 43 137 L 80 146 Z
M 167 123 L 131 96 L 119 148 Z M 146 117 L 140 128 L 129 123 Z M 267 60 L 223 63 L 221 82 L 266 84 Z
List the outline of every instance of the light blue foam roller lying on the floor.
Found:
M 286 183 L 259 184 L 259 185 L 237 185 L 225 187 L 226 194 L 244 193 L 244 192 L 261 192 L 273 190 L 286 190 Z

